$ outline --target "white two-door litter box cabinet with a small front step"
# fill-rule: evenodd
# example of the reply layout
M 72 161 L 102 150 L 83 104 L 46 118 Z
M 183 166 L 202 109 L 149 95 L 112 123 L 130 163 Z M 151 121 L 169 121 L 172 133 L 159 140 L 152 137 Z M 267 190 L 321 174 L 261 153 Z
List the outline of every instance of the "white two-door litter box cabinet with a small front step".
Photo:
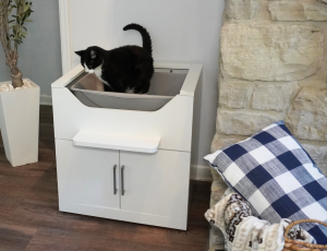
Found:
M 52 84 L 59 210 L 186 229 L 193 105 L 199 64 L 180 93 L 156 111 L 95 108 L 68 87 L 78 65 Z

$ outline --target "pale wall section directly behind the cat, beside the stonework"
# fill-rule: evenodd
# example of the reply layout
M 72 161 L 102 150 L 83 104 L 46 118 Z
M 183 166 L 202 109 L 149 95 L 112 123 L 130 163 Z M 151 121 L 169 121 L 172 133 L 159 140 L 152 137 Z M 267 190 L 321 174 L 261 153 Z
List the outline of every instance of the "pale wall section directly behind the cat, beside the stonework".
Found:
M 201 113 L 194 135 L 197 154 L 192 164 L 208 174 L 203 156 L 209 153 L 215 134 L 219 35 L 223 0 L 71 0 L 73 50 L 88 46 L 111 49 L 142 45 L 137 32 L 123 32 L 129 23 L 147 28 L 153 39 L 155 61 L 204 64 Z M 80 63 L 77 56 L 73 64 Z M 202 171 L 202 170 L 199 170 Z

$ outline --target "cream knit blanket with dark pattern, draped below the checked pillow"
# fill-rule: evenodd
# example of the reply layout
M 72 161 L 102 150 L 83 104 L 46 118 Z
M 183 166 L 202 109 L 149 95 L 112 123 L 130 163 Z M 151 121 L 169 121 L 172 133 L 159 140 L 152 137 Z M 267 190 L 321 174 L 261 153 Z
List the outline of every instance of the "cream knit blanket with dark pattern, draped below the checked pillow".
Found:
M 291 223 L 290 219 L 281 219 L 279 224 L 271 225 L 253 216 L 246 202 L 230 189 L 220 202 L 206 212 L 205 217 L 222 231 L 226 251 L 281 251 L 284 229 Z M 315 242 L 299 226 L 290 230 L 289 238 Z

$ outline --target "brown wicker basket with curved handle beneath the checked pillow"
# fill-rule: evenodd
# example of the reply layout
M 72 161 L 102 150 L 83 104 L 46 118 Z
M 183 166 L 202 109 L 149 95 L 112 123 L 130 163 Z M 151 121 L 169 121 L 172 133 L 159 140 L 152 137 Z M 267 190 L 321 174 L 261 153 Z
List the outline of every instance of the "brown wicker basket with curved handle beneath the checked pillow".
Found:
M 283 238 L 284 238 L 284 247 L 282 251 L 322 251 L 322 250 L 327 250 L 327 246 L 323 246 L 323 244 L 311 244 L 311 243 L 305 243 L 302 241 L 296 241 L 296 240 L 291 240 L 288 239 L 288 234 L 289 230 L 301 223 L 317 223 L 317 224 L 322 224 L 325 227 L 327 227 L 326 223 L 323 223 L 320 220 L 316 220 L 316 219 L 301 219 L 301 220 L 296 220 L 291 223 L 284 230 L 283 234 Z

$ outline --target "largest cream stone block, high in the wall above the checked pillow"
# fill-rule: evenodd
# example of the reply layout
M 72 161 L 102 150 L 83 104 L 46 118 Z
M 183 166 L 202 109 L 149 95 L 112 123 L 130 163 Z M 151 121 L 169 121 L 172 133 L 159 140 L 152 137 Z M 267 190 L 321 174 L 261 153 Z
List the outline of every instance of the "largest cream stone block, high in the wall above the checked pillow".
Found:
M 324 34 L 312 24 L 225 24 L 223 76 L 249 81 L 295 81 L 323 64 Z

